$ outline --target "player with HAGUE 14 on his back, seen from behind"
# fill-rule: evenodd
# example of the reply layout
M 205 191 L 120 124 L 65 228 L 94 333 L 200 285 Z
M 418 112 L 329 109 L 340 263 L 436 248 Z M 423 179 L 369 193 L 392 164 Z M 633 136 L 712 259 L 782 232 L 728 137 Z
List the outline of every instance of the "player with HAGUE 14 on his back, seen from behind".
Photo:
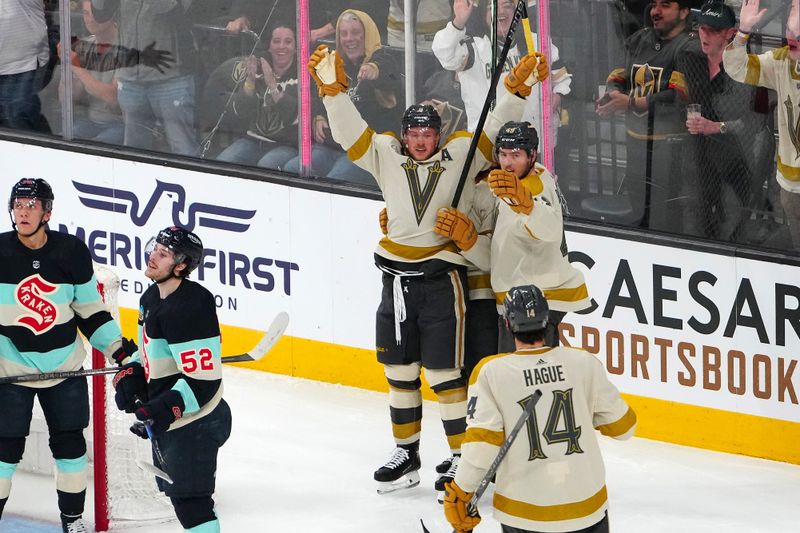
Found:
M 516 351 L 484 359 L 470 377 L 467 434 L 456 478 L 446 485 L 445 516 L 457 531 L 478 525 L 467 503 L 539 390 L 527 431 L 497 469 L 494 517 L 503 533 L 607 532 L 605 467 L 594 430 L 627 439 L 636 414 L 600 359 L 545 346 L 548 307 L 537 287 L 513 287 L 504 314 Z

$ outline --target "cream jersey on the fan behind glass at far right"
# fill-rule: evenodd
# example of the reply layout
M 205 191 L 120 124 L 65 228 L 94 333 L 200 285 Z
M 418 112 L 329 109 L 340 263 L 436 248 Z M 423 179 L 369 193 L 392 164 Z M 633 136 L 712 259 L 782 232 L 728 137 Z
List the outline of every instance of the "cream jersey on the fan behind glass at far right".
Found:
M 725 72 L 736 81 L 778 93 L 778 184 L 800 193 L 800 62 L 789 48 L 755 55 L 735 40 L 722 55 Z

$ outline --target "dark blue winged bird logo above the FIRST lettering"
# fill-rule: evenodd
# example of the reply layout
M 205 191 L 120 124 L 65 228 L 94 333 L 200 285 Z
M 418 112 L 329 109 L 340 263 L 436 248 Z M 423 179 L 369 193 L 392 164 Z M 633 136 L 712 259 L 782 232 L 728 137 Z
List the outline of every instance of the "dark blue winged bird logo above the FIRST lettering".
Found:
M 243 233 L 250 227 L 250 224 L 245 221 L 252 219 L 256 214 L 255 210 L 200 202 L 187 205 L 186 190 L 181 185 L 160 180 L 156 180 L 156 188 L 144 206 L 140 205 L 139 198 L 131 191 L 100 187 L 74 180 L 72 184 L 80 193 L 78 198 L 81 203 L 86 207 L 112 213 L 126 213 L 131 217 L 131 221 L 139 227 L 147 224 L 162 196 L 166 196 L 168 200 L 172 201 L 173 225 L 184 227 L 189 231 L 194 231 L 195 227 L 200 226 Z M 182 217 L 185 217 L 186 220 L 182 220 Z

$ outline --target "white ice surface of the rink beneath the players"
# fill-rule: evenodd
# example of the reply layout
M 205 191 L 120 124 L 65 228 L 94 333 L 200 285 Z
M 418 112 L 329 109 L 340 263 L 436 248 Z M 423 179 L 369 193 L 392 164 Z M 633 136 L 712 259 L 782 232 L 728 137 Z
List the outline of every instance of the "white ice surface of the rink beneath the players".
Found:
M 225 368 L 225 398 L 234 427 L 217 472 L 223 531 L 419 533 L 420 518 L 431 533 L 452 531 L 433 489 L 433 467 L 448 455 L 435 403 L 424 405 L 422 482 L 379 496 L 372 472 L 394 447 L 385 394 Z M 800 531 L 798 466 L 639 438 L 600 444 L 615 533 Z M 491 486 L 479 507 L 476 533 L 499 533 Z M 52 478 L 18 473 L 0 532 L 57 533 L 57 517 Z

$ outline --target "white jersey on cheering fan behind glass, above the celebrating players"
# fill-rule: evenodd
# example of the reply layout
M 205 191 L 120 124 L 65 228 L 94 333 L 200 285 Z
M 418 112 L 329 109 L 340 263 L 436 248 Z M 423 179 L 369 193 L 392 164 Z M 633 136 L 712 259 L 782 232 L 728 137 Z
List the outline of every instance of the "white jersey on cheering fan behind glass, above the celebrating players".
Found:
M 535 34 L 533 38 L 535 41 Z M 466 30 L 459 30 L 453 26 L 452 22 L 448 22 L 447 26 L 438 31 L 433 38 L 432 49 L 442 67 L 458 72 L 458 81 L 461 84 L 461 99 L 464 100 L 464 107 L 467 111 L 467 129 L 474 131 L 486 94 L 489 92 L 489 82 L 492 76 L 492 41 L 486 35 L 474 37 L 471 40 L 467 39 Z M 552 64 L 558 61 L 558 48 L 551 44 L 550 50 L 552 57 L 547 59 Z M 498 85 L 502 85 L 508 71 L 519 63 L 521 58 L 522 53 L 518 47 L 514 46 L 508 51 L 506 64 L 503 66 L 503 73 L 500 75 Z M 571 75 L 564 70 L 552 73 L 552 76 L 553 93 L 569 94 L 572 82 Z M 541 133 L 540 106 L 542 98 L 540 87 L 541 84 L 538 83 L 533 86 L 533 91 L 528 97 L 528 103 L 525 106 L 525 112 L 521 120 L 527 120 L 534 125 L 536 131 Z M 558 124 L 557 117 L 555 117 L 553 124 Z

